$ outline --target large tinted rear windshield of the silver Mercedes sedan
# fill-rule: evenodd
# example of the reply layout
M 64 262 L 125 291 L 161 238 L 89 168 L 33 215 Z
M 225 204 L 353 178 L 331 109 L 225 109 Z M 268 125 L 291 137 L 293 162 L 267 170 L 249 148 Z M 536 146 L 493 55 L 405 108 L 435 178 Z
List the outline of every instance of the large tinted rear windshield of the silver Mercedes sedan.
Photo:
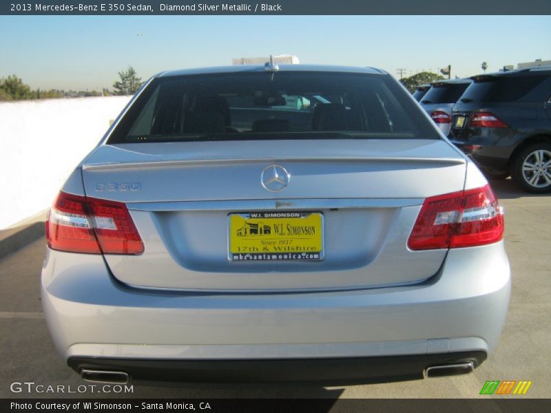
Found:
M 391 76 L 254 72 L 156 78 L 108 143 L 278 138 L 439 136 Z

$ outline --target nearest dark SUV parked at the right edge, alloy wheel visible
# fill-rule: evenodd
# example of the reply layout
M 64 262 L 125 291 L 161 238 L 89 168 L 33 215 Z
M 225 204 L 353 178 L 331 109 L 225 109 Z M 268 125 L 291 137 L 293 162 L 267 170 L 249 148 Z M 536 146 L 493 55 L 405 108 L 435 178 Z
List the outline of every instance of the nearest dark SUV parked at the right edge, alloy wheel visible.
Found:
M 450 140 L 490 178 L 551 190 L 551 67 L 472 76 L 452 109 Z

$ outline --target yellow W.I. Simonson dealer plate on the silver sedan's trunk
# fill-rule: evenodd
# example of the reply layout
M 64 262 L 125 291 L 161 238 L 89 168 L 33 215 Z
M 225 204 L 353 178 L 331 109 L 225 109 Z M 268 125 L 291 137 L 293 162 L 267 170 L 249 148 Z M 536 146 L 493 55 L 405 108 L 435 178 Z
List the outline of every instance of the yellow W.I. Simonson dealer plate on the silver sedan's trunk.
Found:
M 230 261 L 323 260 L 320 212 L 232 213 L 228 226 Z

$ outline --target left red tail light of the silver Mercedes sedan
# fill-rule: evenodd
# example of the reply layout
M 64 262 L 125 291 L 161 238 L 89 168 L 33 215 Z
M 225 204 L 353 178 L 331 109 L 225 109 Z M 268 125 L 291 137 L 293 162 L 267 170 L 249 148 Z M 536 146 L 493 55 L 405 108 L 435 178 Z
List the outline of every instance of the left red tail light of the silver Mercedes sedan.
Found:
M 122 202 L 60 192 L 46 222 L 48 246 L 90 254 L 141 254 L 143 242 Z

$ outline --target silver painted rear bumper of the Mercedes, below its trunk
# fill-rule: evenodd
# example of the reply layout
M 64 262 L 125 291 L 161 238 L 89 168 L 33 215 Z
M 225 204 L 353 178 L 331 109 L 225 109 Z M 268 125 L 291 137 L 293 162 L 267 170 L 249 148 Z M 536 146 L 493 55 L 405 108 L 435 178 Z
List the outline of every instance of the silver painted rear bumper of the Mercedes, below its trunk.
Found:
M 490 352 L 510 295 L 503 242 L 451 250 L 439 273 L 414 286 L 249 294 L 139 290 L 117 282 L 99 255 L 59 251 L 48 251 L 41 280 L 56 348 L 77 369 L 81 362 L 94 367 L 104 361 L 110 368 L 181 363 L 196 371 L 209 366 L 203 361 L 230 367 L 288 359 L 377 364 L 391 357 L 407 361 L 406 370 L 411 360 L 422 361 L 412 368 L 418 375 L 430 363 L 457 361 L 457 353 Z M 346 364 L 350 377 L 369 379 L 370 364 L 356 372 L 353 364 Z

